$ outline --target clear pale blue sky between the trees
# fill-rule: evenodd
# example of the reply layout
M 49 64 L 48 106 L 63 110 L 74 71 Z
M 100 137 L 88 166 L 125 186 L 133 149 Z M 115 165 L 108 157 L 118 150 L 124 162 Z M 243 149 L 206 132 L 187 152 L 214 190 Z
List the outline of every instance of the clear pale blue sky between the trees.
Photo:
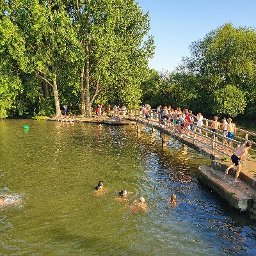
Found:
M 256 0 L 136 0 L 150 13 L 155 56 L 150 68 L 172 71 L 189 45 L 227 22 L 256 28 Z

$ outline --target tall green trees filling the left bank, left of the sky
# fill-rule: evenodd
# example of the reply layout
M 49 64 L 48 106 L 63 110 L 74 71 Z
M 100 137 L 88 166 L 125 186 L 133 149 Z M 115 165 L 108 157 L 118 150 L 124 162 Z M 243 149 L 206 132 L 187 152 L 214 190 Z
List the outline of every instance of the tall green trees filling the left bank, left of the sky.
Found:
M 0 0 L 0 118 L 138 106 L 149 29 L 134 0 Z

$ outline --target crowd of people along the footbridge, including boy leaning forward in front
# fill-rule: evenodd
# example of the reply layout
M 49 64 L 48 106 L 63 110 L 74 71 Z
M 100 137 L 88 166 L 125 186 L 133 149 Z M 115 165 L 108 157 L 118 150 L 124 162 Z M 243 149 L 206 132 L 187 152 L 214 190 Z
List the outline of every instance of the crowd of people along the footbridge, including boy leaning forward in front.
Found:
M 154 113 L 153 113 L 154 115 Z M 140 107 L 140 116 L 142 118 L 150 118 L 152 116 L 152 111 L 149 105 Z M 156 116 L 154 116 L 156 118 Z M 159 124 L 167 125 L 168 127 L 173 127 L 175 130 L 179 131 L 181 136 L 186 136 L 191 131 L 198 130 L 199 133 L 202 133 L 203 120 L 204 116 L 202 113 L 197 113 L 197 115 L 193 114 L 193 111 L 177 108 L 173 109 L 171 106 L 158 106 L 157 107 L 157 118 L 159 120 Z M 167 123 L 167 124 L 166 124 Z M 196 124 L 196 125 L 195 125 Z M 209 129 L 209 127 L 205 127 L 205 129 Z M 218 142 L 219 132 L 222 134 L 222 143 L 223 145 L 228 145 L 233 148 L 232 140 L 234 140 L 234 136 L 236 135 L 237 129 L 236 125 L 232 123 L 232 118 L 222 118 L 222 123 L 218 121 L 218 116 L 214 116 L 214 120 L 211 121 L 211 131 L 213 146 L 216 147 Z M 205 132 L 207 132 L 205 130 Z M 228 138 L 228 139 L 227 139 Z M 239 183 L 241 181 L 238 180 L 239 173 L 241 172 L 241 159 L 248 154 L 248 150 L 252 147 L 252 143 L 250 141 L 246 141 L 244 145 L 237 147 L 234 150 L 234 154 L 230 157 L 232 164 L 228 166 L 225 174 L 228 174 L 228 170 L 230 168 L 236 167 L 236 177 L 235 182 Z

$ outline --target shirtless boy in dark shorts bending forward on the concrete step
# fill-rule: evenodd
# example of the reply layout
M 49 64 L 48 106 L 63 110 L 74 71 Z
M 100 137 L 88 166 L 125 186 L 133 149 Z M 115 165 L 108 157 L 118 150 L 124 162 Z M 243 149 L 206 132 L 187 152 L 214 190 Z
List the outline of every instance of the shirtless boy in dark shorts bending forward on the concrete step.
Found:
M 246 145 L 240 146 L 236 148 L 234 155 L 231 156 L 232 164 L 228 166 L 226 169 L 226 174 L 228 174 L 228 170 L 234 166 L 237 166 L 236 178 L 235 182 L 240 183 L 241 181 L 237 180 L 239 173 L 241 172 L 241 158 L 244 157 L 248 153 L 248 149 L 252 147 L 252 143 L 247 142 Z

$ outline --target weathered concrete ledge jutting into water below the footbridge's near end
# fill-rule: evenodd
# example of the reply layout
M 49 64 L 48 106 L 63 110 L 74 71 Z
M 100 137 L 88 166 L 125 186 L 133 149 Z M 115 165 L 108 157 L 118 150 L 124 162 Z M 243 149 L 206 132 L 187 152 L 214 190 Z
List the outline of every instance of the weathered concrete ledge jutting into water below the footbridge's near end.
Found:
M 252 207 L 253 197 L 246 195 L 236 186 L 230 186 L 226 181 L 224 182 L 218 175 L 214 174 L 211 166 L 200 166 L 198 175 L 207 186 L 216 191 L 236 209 L 248 211 Z

